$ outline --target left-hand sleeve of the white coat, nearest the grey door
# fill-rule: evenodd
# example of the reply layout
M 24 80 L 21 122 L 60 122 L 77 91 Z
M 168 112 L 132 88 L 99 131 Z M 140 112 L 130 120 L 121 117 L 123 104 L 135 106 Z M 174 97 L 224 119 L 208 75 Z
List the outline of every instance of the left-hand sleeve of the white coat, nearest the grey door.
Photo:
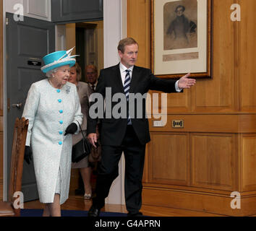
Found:
M 30 90 L 27 93 L 27 100 L 24 106 L 22 117 L 28 119 L 29 124 L 27 128 L 27 139 L 26 146 L 30 146 L 30 138 L 35 121 L 35 115 L 38 110 L 38 104 L 40 100 L 40 92 L 38 91 L 35 84 L 32 84 Z

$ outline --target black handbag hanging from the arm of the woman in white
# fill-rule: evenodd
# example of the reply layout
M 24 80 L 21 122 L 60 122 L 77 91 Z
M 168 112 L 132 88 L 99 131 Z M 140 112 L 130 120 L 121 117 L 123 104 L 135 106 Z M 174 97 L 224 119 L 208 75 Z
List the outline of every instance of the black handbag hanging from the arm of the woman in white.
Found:
M 78 124 L 80 126 L 79 122 Z M 82 133 L 81 126 L 80 126 L 80 129 Z M 83 158 L 87 157 L 88 154 L 90 154 L 90 149 L 91 149 L 90 141 L 88 141 L 88 139 L 82 133 L 82 139 L 77 144 L 74 144 L 74 146 L 72 147 L 72 162 L 79 162 Z

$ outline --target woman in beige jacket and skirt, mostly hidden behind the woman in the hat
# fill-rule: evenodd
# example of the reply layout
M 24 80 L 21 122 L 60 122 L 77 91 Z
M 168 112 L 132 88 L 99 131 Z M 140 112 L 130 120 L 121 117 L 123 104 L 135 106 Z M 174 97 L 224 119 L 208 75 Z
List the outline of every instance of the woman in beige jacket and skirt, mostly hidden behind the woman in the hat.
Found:
M 81 127 L 83 130 L 83 134 L 86 134 L 87 118 L 89 113 L 89 97 L 93 91 L 90 90 L 87 83 L 80 82 L 80 79 L 81 79 L 81 68 L 79 64 L 76 63 L 70 69 L 69 82 L 72 82 L 72 84 L 75 84 L 77 86 L 77 93 L 80 98 L 81 110 L 84 116 Z M 74 134 L 72 138 L 73 138 L 73 145 L 77 144 L 82 139 L 81 132 L 79 134 Z M 80 162 L 72 163 L 72 168 L 80 169 L 82 181 L 85 188 L 84 198 L 90 199 L 92 197 L 92 187 L 90 185 L 91 167 L 89 166 L 88 156 L 80 160 Z

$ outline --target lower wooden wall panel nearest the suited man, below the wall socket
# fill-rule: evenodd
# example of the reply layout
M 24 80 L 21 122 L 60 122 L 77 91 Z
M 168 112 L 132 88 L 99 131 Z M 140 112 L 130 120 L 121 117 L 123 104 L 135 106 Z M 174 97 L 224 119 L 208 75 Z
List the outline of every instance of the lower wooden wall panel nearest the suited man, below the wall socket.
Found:
M 149 182 L 189 185 L 188 134 L 153 133 L 151 139 Z

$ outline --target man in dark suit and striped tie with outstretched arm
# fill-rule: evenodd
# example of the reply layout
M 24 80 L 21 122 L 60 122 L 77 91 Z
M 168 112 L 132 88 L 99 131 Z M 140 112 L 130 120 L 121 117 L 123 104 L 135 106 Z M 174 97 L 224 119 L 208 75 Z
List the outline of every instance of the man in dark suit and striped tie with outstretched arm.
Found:
M 144 167 L 145 144 L 150 141 L 148 119 L 145 113 L 145 100 L 142 107 L 134 108 L 135 116 L 129 112 L 129 94 L 140 93 L 144 95 L 148 90 L 158 90 L 163 92 L 180 92 L 184 88 L 192 87 L 195 79 L 188 79 L 189 74 L 179 81 L 174 79 L 160 79 L 155 77 L 150 69 L 135 66 L 138 55 L 138 44 L 132 38 L 125 38 L 119 42 L 118 53 L 120 63 L 101 70 L 96 92 L 100 93 L 106 100 L 106 88 L 111 89 L 111 96 L 116 93 L 123 93 L 127 99 L 127 116 L 116 118 L 116 116 L 106 116 L 119 102 L 111 102 L 111 108 L 107 108 L 104 118 L 101 119 L 101 144 L 102 156 L 98 169 L 96 183 L 96 196 L 93 199 L 88 216 L 98 217 L 101 208 L 105 204 L 112 182 L 118 176 L 119 160 L 122 152 L 125 158 L 125 201 L 128 216 L 141 216 L 140 207 L 142 204 L 142 173 Z M 112 98 L 112 97 L 111 97 Z M 136 104 L 136 103 L 135 103 Z M 95 127 L 97 118 L 88 118 L 88 139 L 95 146 L 97 136 Z

